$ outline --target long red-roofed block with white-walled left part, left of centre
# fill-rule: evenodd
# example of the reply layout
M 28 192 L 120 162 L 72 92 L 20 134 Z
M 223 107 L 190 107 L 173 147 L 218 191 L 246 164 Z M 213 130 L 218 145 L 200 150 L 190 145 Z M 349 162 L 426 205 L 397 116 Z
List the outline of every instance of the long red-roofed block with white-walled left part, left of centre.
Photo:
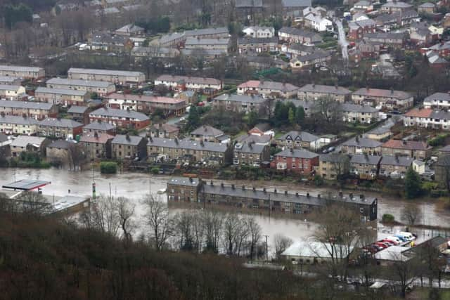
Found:
M 167 117 L 180 116 L 186 112 L 186 100 L 181 98 L 169 98 L 160 96 L 143 96 L 125 93 L 112 93 L 106 97 L 108 107 L 120 110 L 136 110 L 138 112 L 150 112 L 160 110 Z

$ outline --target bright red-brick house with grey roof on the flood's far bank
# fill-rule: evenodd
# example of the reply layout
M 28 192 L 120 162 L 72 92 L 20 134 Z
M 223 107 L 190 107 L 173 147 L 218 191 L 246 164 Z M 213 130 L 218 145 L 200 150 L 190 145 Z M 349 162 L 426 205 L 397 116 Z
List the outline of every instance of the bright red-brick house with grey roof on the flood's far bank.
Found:
M 275 155 L 271 168 L 310 175 L 319 166 L 319 155 L 304 149 L 286 149 Z

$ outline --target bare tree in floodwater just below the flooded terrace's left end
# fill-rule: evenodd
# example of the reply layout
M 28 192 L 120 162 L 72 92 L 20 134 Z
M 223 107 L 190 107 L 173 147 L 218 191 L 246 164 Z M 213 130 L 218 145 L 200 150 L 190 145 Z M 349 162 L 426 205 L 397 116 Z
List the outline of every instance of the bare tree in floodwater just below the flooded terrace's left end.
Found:
M 143 199 L 146 206 L 146 223 L 152 231 L 150 240 L 153 241 L 155 249 L 162 250 L 172 235 L 172 219 L 169 216 L 167 205 L 153 197 L 146 195 Z

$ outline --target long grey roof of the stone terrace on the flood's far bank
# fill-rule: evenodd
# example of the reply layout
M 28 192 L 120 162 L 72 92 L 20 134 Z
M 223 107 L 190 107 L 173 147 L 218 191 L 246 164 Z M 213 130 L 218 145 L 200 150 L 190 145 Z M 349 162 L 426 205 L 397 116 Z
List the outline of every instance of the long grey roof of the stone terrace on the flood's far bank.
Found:
M 222 143 L 177 140 L 172 138 L 151 138 L 148 140 L 147 145 L 153 147 L 204 150 L 213 152 L 225 152 L 228 147 L 227 145 Z

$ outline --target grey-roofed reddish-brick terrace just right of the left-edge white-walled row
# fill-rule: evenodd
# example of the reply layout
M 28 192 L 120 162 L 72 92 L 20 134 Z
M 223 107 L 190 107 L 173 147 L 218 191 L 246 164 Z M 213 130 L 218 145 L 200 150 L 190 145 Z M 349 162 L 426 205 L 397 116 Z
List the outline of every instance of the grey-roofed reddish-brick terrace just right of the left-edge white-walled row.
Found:
M 38 123 L 39 136 L 56 136 L 57 138 L 72 138 L 83 132 L 84 124 L 71 119 L 47 118 Z

